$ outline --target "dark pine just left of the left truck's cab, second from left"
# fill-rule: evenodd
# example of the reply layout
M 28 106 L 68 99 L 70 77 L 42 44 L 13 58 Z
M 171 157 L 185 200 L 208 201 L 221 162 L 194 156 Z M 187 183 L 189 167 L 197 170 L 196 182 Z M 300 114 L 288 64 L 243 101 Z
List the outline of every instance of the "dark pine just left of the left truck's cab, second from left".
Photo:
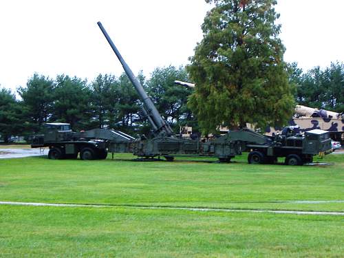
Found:
M 39 131 L 41 125 L 52 116 L 54 80 L 34 74 L 26 87 L 19 87 L 17 92 L 23 99 L 23 111 L 32 131 Z

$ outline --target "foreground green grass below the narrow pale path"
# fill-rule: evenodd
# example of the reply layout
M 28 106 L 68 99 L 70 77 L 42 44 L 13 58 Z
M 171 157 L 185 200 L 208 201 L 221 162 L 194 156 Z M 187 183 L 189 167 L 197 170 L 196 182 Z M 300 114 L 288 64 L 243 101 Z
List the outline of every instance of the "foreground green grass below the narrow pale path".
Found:
M 0 206 L 1 257 L 341 257 L 343 217 Z

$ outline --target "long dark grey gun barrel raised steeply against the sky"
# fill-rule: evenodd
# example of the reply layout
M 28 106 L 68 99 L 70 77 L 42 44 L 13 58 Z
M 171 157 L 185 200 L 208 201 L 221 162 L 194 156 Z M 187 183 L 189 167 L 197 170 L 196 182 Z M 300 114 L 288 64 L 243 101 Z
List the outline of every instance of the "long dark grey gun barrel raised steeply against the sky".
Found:
M 98 26 L 100 30 L 103 32 L 105 38 L 107 39 L 107 42 L 110 44 L 112 50 L 114 50 L 118 60 L 122 64 L 123 69 L 125 70 L 125 73 L 129 77 L 129 80 L 131 80 L 131 83 L 133 83 L 133 86 L 135 87 L 136 91 L 138 92 L 138 95 L 140 96 L 143 105 L 144 110 L 147 112 L 148 116 L 151 118 L 149 119 L 149 122 L 151 122 L 151 126 L 153 129 L 155 129 L 155 133 L 158 134 L 161 131 L 164 131 L 167 135 L 173 135 L 173 131 L 169 124 L 160 116 L 158 109 L 156 109 L 155 105 L 153 104 L 153 101 L 147 93 L 144 91 L 142 85 L 138 81 L 138 79 L 133 75 L 133 72 L 125 63 L 124 59 L 120 55 L 120 52 L 118 51 L 117 47 L 115 46 L 114 42 L 111 41 L 109 34 L 107 34 L 105 28 L 103 27 L 102 23 L 98 21 Z M 152 122 L 153 121 L 153 122 Z

